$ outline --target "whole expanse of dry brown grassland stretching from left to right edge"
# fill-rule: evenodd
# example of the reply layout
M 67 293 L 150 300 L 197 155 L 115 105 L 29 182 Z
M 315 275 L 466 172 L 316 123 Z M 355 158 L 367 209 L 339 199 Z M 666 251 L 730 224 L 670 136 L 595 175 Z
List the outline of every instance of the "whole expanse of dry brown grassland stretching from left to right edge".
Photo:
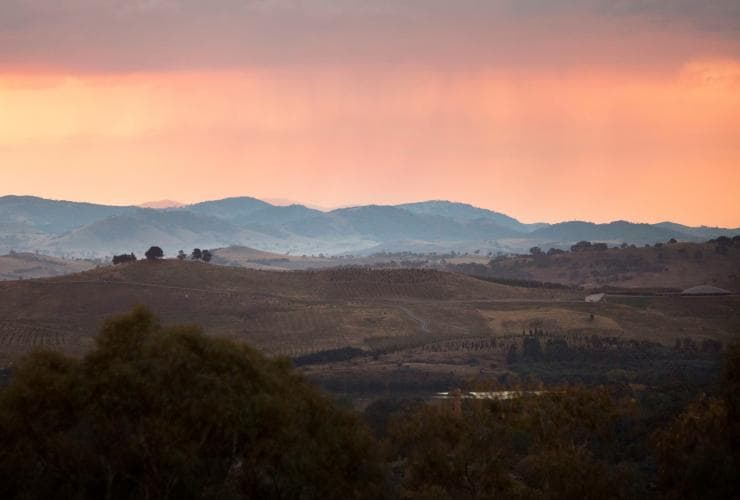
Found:
M 106 318 L 135 304 L 150 306 L 164 322 L 196 323 L 270 354 L 367 354 L 304 368 L 335 380 L 347 373 L 394 381 L 493 373 L 505 365 L 506 339 L 522 330 L 665 345 L 683 337 L 727 342 L 740 332 L 736 296 L 609 296 L 587 304 L 575 290 L 433 270 L 271 272 L 140 261 L 0 283 L 0 365 L 36 347 L 80 355 Z

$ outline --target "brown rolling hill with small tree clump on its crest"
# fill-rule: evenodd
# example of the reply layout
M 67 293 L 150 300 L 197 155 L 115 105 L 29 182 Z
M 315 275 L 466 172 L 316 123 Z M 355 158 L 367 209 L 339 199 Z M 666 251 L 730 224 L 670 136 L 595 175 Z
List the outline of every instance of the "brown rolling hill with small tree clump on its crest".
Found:
M 137 303 L 167 320 L 199 323 L 268 352 L 286 352 L 362 347 L 367 338 L 416 334 L 419 321 L 409 312 L 417 309 L 414 304 L 433 309 L 429 314 L 439 322 L 424 330 L 441 334 L 472 331 L 480 321 L 455 301 L 551 296 L 433 270 L 269 272 L 139 261 L 61 278 L 0 283 L 0 353 L 12 358 L 34 345 L 82 352 L 106 317 Z M 406 309 L 399 305 L 406 302 Z

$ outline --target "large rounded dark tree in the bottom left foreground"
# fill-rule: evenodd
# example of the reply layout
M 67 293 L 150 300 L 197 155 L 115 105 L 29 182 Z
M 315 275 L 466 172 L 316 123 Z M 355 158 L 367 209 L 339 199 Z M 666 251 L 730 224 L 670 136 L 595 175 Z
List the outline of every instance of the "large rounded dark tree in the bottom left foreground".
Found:
M 3 498 L 372 498 L 375 457 L 287 361 L 144 308 L 81 360 L 29 355 L 0 392 Z

